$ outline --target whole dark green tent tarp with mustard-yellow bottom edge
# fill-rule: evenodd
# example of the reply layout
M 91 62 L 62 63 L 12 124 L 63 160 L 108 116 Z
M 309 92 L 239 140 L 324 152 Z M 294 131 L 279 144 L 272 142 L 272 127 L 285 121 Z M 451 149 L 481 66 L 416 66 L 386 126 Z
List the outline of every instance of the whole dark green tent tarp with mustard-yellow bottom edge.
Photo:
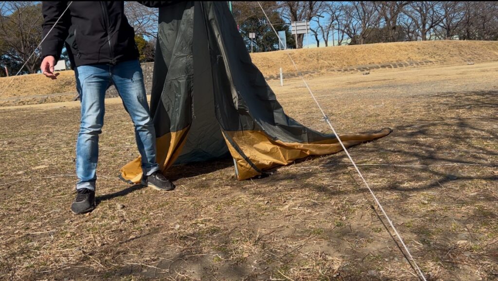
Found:
M 288 117 L 249 52 L 226 1 L 186 1 L 159 9 L 151 115 L 157 161 L 206 161 L 230 154 L 239 180 L 308 155 L 342 149 Z M 346 146 L 384 137 L 340 136 Z M 122 178 L 138 183 L 140 157 L 124 165 Z

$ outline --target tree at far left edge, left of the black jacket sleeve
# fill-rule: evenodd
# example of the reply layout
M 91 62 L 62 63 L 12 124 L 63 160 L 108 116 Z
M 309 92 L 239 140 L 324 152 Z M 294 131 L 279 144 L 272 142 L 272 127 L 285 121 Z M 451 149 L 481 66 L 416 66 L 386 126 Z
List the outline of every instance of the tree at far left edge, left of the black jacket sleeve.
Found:
M 34 1 L 2 2 L 0 7 L 0 53 L 3 66 L 16 73 L 35 73 L 41 63 L 40 50 L 43 21 L 41 5 Z M 28 60 L 29 56 L 33 56 Z

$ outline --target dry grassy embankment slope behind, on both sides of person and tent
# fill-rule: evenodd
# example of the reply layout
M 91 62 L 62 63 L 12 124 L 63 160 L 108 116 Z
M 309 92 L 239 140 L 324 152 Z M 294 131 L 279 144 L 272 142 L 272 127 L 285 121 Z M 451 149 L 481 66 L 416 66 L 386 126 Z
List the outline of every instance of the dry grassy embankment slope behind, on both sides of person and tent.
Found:
M 284 72 L 293 72 L 294 68 L 287 53 L 291 54 L 301 71 L 327 71 L 335 68 L 389 62 L 429 60 L 437 64 L 461 64 L 467 61 L 495 61 L 498 57 L 498 42 L 427 41 L 382 43 L 256 53 L 252 55 L 252 59 L 265 76 L 278 73 L 278 67 L 282 67 Z M 10 78 L 0 78 L 0 89 L 3 89 L 10 80 Z M 61 72 L 56 81 L 47 79 L 42 74 L 17 77 L 0 99 L 67 92 L 75 92 L 73 71 Z M 71 96 L 68 98 L 70 99 Z M 46 102 L 56 101 L 59 100 L 51 101 L 47 99 Z

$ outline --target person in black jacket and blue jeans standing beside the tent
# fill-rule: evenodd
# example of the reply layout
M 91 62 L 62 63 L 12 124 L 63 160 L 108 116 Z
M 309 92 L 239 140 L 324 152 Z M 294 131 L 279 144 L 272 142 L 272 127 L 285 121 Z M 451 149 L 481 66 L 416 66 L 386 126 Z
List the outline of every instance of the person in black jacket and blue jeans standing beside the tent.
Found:
M 139 2 L 149 7 L 172 3 Z M 82 214 L 95 208 L 99 135 L 104 125 L 105 93 L 111 84 L 115 85 L 135 127 L 143 172 L 141 184 L 158 190 L 174 189 L 175 185 L 161 173 L 156 162 L 155 130 L 145 96 L 134 30 L 124 14 L 124 2 L 43 1 L 42 13 L 45 39 L 41 44 L 41 71 L 46 77 L 57 79 L 54 65 L 65 45 L 81 101 L 76 143 L 77 194 L 71 211 Z

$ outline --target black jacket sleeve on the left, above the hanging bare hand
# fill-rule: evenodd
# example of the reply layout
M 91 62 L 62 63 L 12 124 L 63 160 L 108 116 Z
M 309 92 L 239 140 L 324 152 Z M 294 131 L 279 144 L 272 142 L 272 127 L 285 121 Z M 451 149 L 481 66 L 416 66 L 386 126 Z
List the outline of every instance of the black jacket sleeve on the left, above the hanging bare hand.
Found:
M 69 10 L 66 11 L 64 16 L 59 19 L 59 22 L 54 26 L 57 19 L 62 15 L 67 8 L 67 1 L 43 1 L 41 10 L 43 14 L 43 37 L 48 36 L 41 44 L 41 57 L 54 56 L 59 60 L 64 41 L 68 36 L 68 27 L 70 24 Z M 52 31 L 50 31 L 50 29 Z M 49 33 L 50 32 L 50 33 Z

